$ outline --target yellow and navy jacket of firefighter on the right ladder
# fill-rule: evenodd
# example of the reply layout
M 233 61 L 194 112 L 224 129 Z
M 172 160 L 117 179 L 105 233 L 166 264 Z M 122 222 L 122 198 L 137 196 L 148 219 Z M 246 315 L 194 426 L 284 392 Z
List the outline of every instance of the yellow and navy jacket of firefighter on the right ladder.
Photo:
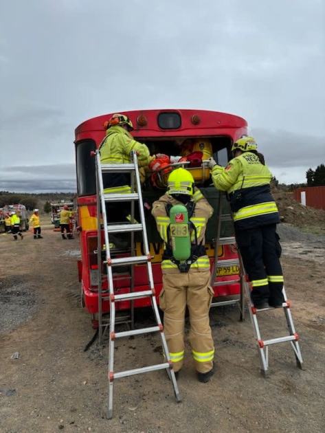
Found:
M 218 165 L 212 168 L 214 186 L 229 194 L 236 229 L 280 222 L 278 208 L 271 195 L 271 179 L 269 168 L 251 152 L 235 157 L 225 168 Z

